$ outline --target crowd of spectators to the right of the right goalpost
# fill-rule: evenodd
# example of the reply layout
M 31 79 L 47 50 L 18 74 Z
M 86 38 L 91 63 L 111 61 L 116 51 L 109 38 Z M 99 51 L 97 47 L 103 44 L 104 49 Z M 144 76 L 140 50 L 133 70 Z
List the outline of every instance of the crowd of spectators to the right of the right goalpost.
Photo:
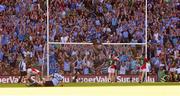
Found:
M 175 81 L 176 73 L 180 74 L 179 52 L 179 0 L 148 0 L 148 58 L 156 73 L 164 71 Z

